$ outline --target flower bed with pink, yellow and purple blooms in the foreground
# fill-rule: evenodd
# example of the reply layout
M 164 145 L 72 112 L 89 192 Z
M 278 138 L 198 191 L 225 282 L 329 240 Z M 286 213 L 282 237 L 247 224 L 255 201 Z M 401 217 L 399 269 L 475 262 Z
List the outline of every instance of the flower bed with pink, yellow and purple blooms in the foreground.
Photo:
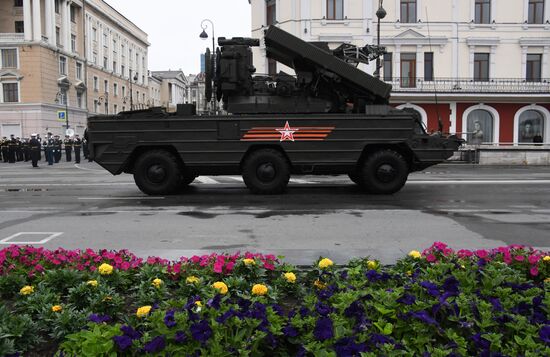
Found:
M 548 356 L 550 255 L 434 243 L 395 265 L 0 251 L 0 355 Z

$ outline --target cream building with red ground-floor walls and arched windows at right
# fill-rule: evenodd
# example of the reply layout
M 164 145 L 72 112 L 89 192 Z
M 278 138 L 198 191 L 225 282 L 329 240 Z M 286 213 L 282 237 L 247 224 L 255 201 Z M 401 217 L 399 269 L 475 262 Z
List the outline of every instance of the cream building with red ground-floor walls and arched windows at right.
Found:
M 474 143 L 550 142 L 550 1 L 252 0 L 252 36 L 276 24 L 306 41 L 358 46 L 387 54 L 381 79 L 392 105 L 417 110 L 428 130 Z M 288 71 L 255 51 L 258 73 Z M 361 65 L 375 73 L 375 64 Z M 291 72 L 292 73 L 292 72 Z M 437 103 L 437 105 L 436 105 Z

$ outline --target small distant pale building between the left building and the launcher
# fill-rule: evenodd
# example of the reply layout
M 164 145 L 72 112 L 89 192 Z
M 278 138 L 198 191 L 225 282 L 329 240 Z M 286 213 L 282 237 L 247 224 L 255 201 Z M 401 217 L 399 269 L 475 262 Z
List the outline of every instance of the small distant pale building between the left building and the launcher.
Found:
M 175 111 L 178 104 L 186 102 L 187 77 L 179 71 L 152 71 L 151 76 L 160 80 L 160 104 L 168 111 Z

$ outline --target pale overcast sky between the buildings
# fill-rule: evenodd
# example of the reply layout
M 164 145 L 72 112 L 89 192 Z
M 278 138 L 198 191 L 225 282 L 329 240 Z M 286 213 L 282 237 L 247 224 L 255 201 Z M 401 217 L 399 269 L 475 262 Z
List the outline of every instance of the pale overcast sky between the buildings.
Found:
M 148 34 L 149 69 L 182 69 L 188 74 L 200 71 L 200 54 L 212 47 L 199 38 L 201 21 L 214 23 L 217 37 L 250 37 L 248 0 L 105 0 Z

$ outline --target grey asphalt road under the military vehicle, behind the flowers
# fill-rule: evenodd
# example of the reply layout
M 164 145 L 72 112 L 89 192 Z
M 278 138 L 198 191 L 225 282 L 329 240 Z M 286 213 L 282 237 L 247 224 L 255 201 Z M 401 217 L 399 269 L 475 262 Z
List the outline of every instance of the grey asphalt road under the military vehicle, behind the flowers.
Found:
M 256 196 L 240 177 L 199 177 L 179 196 L 148 197 L 129 175 L 95 163 L 33 169 L 0 163 L 0 247 L 122 249 L 176 259 L 211 252 L 319 256 L 391 263 L 434 241 L 453 248 L 526 244 L 550 250 L 550 167 L 439 165 L 391 196 L 361 192 L 347 176 L 291 180 Z

